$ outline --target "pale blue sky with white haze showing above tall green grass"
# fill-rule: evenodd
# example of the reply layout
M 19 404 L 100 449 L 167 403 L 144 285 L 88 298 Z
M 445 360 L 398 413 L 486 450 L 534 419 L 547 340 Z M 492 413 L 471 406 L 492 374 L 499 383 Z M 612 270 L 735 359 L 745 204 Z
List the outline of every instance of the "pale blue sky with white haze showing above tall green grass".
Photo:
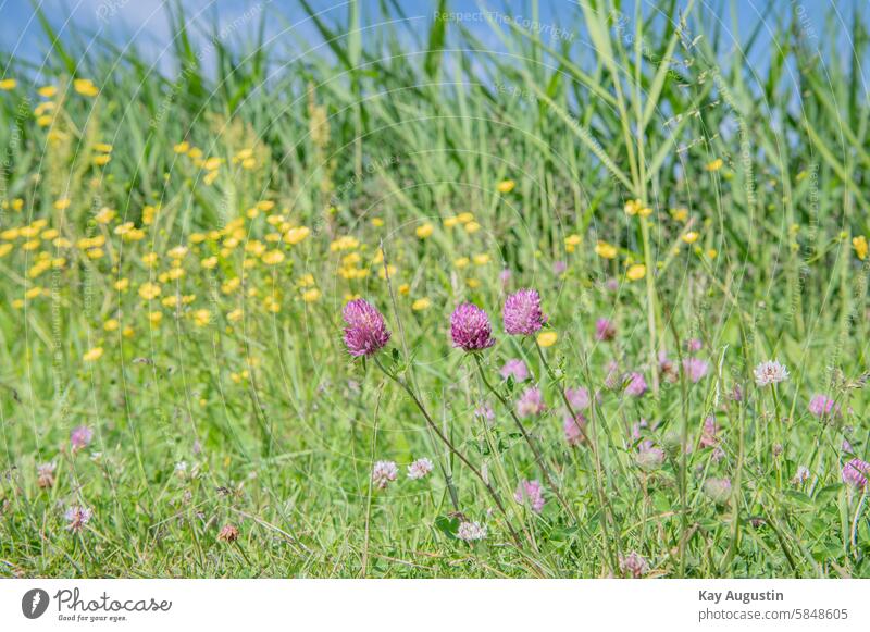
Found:
M 164 4 L 166 0 L 38 0 L 55 29 L 63 38 L 79 38 L 84 42 L 96 41 L 97 37 L 107 37 L 120 46 L 134 42 L 139 51 L 160 58 L 165 50 L 172 34 L 166 18 Z M 646 11 L 655 11 L 656 2 L 641 0 Z M 181 0 L 188 20 L 202 27 L 203 32 L 215 22 L 221 27 L 233 32 L 234 38 L 250 36 L 257 28 L 260 13 L 269 15 L 269 32 L 282 42 L 290 46 L 300 42 L 316 46 L 320 39 L 311 21 L 306 16 L 297 0 Z M 347 11 L 346 3 L 340 0 L 310 0 L 318 11 L 323 11 L 327 22 L 340 20 Z M 408 28 L 418 30 L 425 40 L 428 25 L 432 22 L 436 3 L 432 0 L 402 0 L 401 5 L 409 16 Z M 363 12 L 372 17 L 376 14 L 377 0 L 363 0 Z M 485 3 L 489 10 L 509 8 L 514 15 L 531 16 L 531 3 L 527 0 L 498 0 Z M 631 12 L 632 2 L 625 2 L 626 13 Z M 818 37 L 824 34 L 825 18 L 833 18 L 844 25 L 841 27 L 843 46 L 847 48 L 845 24 L 850 20 L 854 7 L 862 7 L 865 15 L 868 11 L 866 0 L 774 0 L 772 7 L 766 0 L 736 0 L 738 27 L 747 34 L 759 21 L 762 26 L 762 38 L 770 44 L 769 33 L 793 7 L 799 7 L 801 25 L 811 29 Z M 474 12 L 482 7 L 476 1 L 453 0 L 449 2 L 450 11 Z M 730 0 L 699 0 L 698 10 L 710 20 L 721 15 L 729 28 L 732 25 Z M 572 0 L 544 0 L 540 2 L 540 21 L 554 25 L 566 24 L 576 13 L 576 2 Z M 472 23 L 471 27 L 487 45 L 497 46 L 497 40 L 488 32 L 485 22 Z M 729 39 L 732 36 L 726 36 Z M 204 41 L 204 36 L 200 37 Z M 29 0 L 0 0 L 0 50 L 14 51 L 23 58 L 39 63 L 45 58 L 47 42 L 34 16 Z M 763 55 L 763 47 L 759 55 Z M 164 55 L 169 61 L 170 55 Z M 204 59 L 208 65 L 208 58 Z M 763 60 L 759 60 L 763 63 Z M 158 62 L 157 67 L 170 70 Z

